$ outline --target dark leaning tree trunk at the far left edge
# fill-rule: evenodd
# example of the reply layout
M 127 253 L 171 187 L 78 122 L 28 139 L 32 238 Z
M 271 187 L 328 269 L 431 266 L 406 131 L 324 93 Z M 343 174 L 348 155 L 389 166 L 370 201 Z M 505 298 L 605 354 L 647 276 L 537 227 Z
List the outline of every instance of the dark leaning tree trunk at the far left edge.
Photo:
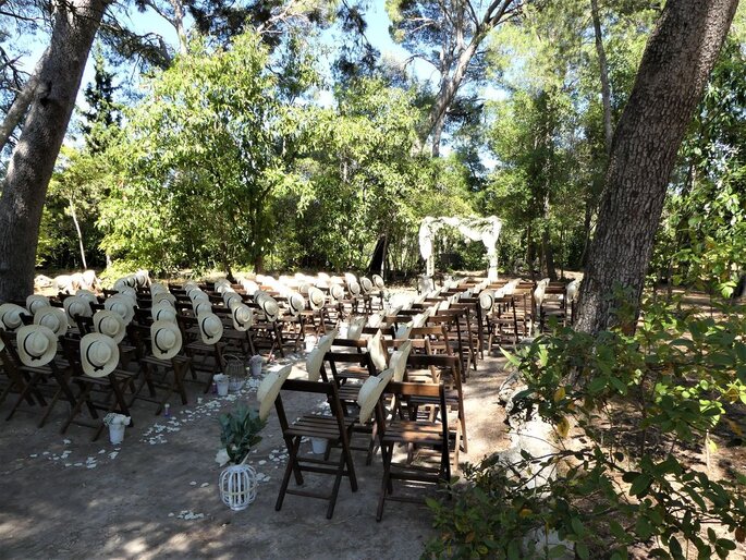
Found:
M 34 291 L 39 224 L 54 161 L 62 146 L 83 70 L 107 0 L 53 3 L 52 35 L 0 195 L 0 301 Z

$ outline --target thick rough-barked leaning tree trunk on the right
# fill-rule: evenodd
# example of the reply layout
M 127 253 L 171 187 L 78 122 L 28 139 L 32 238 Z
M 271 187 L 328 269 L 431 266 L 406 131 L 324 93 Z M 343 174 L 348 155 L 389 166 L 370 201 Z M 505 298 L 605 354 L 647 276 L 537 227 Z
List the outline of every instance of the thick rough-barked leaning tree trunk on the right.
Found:
M 738 0 L 669 0 L 648 40 L 612 143 L 576 327 L 617 322 L 612 293 L 639 300 L 676 151 Z

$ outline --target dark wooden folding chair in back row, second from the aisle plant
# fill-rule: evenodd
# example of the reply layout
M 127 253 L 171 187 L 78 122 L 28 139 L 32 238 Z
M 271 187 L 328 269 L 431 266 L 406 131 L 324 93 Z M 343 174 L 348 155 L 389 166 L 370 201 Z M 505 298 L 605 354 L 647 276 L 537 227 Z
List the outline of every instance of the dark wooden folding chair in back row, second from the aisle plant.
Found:
M 386 500 L 424 501 L 420 497 L 412 495 L 394 495 L 394 480 L 415 483 L 419 489 L 421 483 L 447 485 L 451 479 L 449 455 L 451 438 L 443 385 L 392 381 L 386 390 L 394 395 L 398 404 L 406 404 L 409 414 L 406 418 L 394 416 L 387 423 L 382 407 L 376 407 L 376 424 L 383 458 L 383 478 L 376 521 L 381 521 L 383 516 Z M 413 405 L 413 399 L 417 399 L 423 407 L 425 404 L 433 406 L 438 413 L 437 417 L 426 414 L 419 406 Z M 415 464 L 409 460 L 411 454 L 408 452 L 406 461 L 394 462 L 393 455 L 396 446 L 405 446 L 407 451 L 413 446 L 416 446 L 420 451 L 430 451 L 438 458 L 438 462 L 436 465 Z

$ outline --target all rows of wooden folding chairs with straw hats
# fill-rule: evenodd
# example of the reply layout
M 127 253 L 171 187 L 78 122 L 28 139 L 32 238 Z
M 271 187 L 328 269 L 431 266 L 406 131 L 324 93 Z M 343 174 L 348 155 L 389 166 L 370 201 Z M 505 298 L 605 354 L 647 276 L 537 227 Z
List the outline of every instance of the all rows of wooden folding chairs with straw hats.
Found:
M 132 429 L 144 410 L 189 403 L 188 384 L 207 393 L 229 362 L 245 372 L 261 355 L 260 414 L 274 411 L 289 453 L 276 509 L 293 507 L 289 495 L 322 498 L 331 519 L 341 489 L 358 489 L 356 466 L 379 464 L 380 521 L 389 501 L 423 501 L 458 471 L 464 387 L 485 356 L 570 320 L 576 293 L 573 283 L 468 278 L 389 306 L 378 276 L 164 284 L 138 271 L 101 293 L 0 305 L 0 405 L 8 421 L 23 412 L 39 428 L 57 409 L 61 434 L 76 424 L 96 440 L 107 413 L 131 416 Z M 271 367 L 304 349 L 305 367 Z M 307 397 L 296 419 L 288 393 Z M 313 410 L 318 397 L 326 415 Z M 308 453 L 305 438 L 326 440 L 326 452 Z M 329 477 L 328 491 L 308 490 L 306 476 Z

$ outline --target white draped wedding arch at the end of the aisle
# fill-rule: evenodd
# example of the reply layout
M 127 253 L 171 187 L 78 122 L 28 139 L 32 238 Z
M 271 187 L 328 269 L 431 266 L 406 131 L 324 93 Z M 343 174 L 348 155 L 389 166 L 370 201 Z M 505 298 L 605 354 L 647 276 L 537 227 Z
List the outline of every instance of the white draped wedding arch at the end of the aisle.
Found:
M 481 241 L 487 249 L 489 268 L 487 278 L 498 279 L 498 238 L 502 229 L 502 220 L 496 216 L 486 218 L 456 218 L 441 216 L 433 218 L 428 216 L 423 218 L 419 224 L 419 254 L 426 263 L 426 273 L 432 277 L 436 271 L 435 258 L 432 255 L 432 242 L 436 234 L 445 226 L 456 228 L 458 232 L 468 241 Z

